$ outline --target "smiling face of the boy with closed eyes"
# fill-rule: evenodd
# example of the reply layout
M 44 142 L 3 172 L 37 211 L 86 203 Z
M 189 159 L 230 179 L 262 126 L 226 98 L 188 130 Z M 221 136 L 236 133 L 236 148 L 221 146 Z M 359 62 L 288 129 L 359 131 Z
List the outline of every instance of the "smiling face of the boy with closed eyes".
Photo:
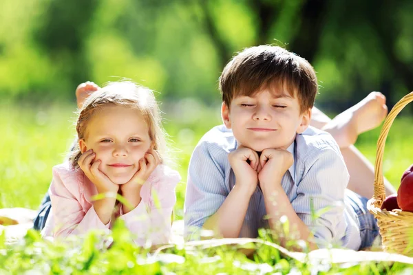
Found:
M 266 148 L 288 148 L 296 133 L 310 123 L 311 109 L 300 114 L 297 96 L 265 89 L 253 97 L 237 96 L 231 105 L 222 103 L 222 120 L 242 145 L 261 152 Z

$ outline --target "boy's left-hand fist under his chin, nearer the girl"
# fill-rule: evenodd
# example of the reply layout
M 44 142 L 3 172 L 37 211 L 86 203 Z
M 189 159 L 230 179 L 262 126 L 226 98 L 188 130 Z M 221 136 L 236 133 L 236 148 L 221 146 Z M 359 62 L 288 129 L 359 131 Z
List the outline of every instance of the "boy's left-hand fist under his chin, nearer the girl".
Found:
M 240 146 L 229 153 L 228 159 L 237 179 L 237 184 L 244 190 L 248 190 L 252 195 L 258 184 L 257 168 L 260 165 L 260 159 L 257 152 L 251 148 Z

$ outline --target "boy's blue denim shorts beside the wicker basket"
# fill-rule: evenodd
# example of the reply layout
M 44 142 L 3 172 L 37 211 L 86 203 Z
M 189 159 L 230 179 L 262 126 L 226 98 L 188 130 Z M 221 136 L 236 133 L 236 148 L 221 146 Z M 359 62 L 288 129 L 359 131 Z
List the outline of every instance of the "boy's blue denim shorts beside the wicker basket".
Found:
M 354 212 L 357 214 L 357 220 L 360 225 L 361 245 L 359 250 L 363 248 L 370 248 L 374 239 L 379 235 L 379 226 L 377 219 L 367 209 L 366 197 L 363 197 L 355 192 L 346 190 L 346 203 L 352 206 Z

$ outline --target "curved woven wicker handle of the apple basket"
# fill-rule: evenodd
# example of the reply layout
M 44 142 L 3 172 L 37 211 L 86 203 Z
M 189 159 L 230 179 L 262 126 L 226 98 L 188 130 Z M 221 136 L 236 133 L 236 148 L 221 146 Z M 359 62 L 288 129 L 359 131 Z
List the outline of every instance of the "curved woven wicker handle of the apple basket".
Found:
M 388 133 L 390 131 L 390 126 L 392 126 L 394 118 L 403 110 L 403 108 L 413 101 L 413 91 L 407 94 L 397 102 L 392 111 L 384 120 L 383 127 L 379 135 L 379 140 L 377 140 L 377 155 L 376 162 L 374 164 L 374 198 L 376 203 L 379 204 L 379 208 L 385 199 L 385 188 L 384 188 L 384 177 L 383 177 L 383 153 L 385 140 L 387 139 Z

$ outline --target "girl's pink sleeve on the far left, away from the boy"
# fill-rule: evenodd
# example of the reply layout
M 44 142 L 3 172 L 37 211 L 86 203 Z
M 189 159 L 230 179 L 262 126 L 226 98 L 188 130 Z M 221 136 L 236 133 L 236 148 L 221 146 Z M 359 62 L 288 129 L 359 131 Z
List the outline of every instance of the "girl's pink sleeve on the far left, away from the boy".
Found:
M 107 225 L 103 224 L 94 206 L 85 212 L 81 202 L 76 199 L 80 197 L 80 183 L 70 173 L 71 171 L 53 168 L 49 195 L 52 201 L 54 238 L 64 239 L 70 235 L 84 234 L 92 229 L 109 229 L 110 221 Z M 77 188 L 67 188 L 68 185 Z M 73 192 L 74 190 L 77 192 Z

